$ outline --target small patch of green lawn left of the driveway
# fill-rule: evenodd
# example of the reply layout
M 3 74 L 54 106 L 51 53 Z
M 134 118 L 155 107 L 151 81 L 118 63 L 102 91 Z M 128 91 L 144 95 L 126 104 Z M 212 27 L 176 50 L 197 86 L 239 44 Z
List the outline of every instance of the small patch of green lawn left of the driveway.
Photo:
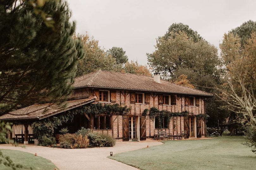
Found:
M 57 168 L 52 163 L 52 161 L 41 156 L 34 156 L 34 154 L 21 152 L 17 150 L 1 149 L 1 151 L 3 152 L 4 156 L 9 156 L 15 164 L 21 164 L 23 167 L 26 168 L 32 167 L 33 169 L 44 170 L 54 170 L 54 168 Z M 0 165 L 0 169 L 8 170 L 11 168 L 5 167 L 4 165 Z

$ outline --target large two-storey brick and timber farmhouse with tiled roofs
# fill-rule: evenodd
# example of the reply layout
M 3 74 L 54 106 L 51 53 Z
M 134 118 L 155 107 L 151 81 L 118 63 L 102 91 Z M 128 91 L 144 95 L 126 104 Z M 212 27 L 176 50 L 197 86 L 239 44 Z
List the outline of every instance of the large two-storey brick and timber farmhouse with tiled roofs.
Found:
M 212 96 L 210 93 L 161 80 L 159 73 L 154 73 L 154 77 L 151 77 L 99 70 L 76 78 L 68 107 L 65 109 L 43 111 L 39 108 L 45 108 L 47 104 L 38 104 L 15 110 L 11 114 L 0 116 L 0 119 L 39 120 L 88 103 L 110 105 L 117 103 L 127 106 L 128 113 L 125 115 L 102 114 L 97 117 L 84 113 L 63 126 L 69 127 L 70 133 L 86 127 L 113 135 L 114 138 L 123 141 L 153 139 L 160 128 L 173 135 L 186 130 L 187 136 L 197 138 L 204 137 L 205 122 L 202 119 L 196 119 L 196 115 L 205 114 L 205 100 Z M 152 120 L 149 116 L 143 116 L 143 111 L 152 107 L 170 112 L 187 111 L 188 114 L 174 116 L 170 121 L 164 120 L 159 124 L 159 117 L 156 116 Z M 33 108 L 36 111 L 25 117 L 21 116 Z M 15 116 L 13 116 L 14 113 Z

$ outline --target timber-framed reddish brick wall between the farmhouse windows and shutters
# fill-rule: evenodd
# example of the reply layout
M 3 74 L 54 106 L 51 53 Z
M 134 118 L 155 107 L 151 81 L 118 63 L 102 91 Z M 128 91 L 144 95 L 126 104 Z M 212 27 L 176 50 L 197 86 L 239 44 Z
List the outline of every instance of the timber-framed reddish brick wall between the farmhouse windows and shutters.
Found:
M 75 90 L 72 93 L 72 96 L 81 96 L 90 94 L 90 89 L 86 90 Z M 130 103 L 130 92 L 124 90 L 116 90 L 116 103 L 122 106 L 127 106 L 130 108 L 130 112 L 128 115 L 131 116 L 141 116 L 144 109 L 150 109 L 151 107 L 157 107 L 159 110 L 168 110 L 171 112 L 181 112 L 181 111 L 189 111 L 194 114 L 204 113 L 204 100 L 199 99 L 199 106 L 185 106 L 185 96 L 177 95 L 176 105 L 158 105 L 158 95 L 156 93 L 150 93 L 150 102 L 149 104 L 134 104 Z M 112 135 L 114 138 L 118 138 L 121 140 L 123 137 L 123 118 L 122 116 L 112 116 L 113 124 L 112 124 Z M 139 119 L 137 119 L 139 121 Z M 203 135 L 204 136 L 204 123 L 203 123 Z M 153 138 L 154 134 L 157 133 L 159 129 L 155 129 L 154 120 L 151 120 L 149 116 L 146 116 L 146 137 L 149 139 Z M 184 130 L 184 117 L 177 116 L 171 118 L 169 122 L 169 127 L 167 129 L 163 129 L 167 131 L 168 134 L 177 134 L 181 133 Z M 105 131 L 104 131 L 105 132 Z

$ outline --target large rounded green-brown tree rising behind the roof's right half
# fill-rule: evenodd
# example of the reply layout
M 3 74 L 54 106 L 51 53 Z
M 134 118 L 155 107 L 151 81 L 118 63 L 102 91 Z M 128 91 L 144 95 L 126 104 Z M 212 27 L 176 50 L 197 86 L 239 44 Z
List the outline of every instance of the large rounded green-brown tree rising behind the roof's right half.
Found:
M 157 39 L 155 48 L 155 52 L 147 54 L 148 64 L 166 79 L 179 82 L 179 77 L 184 75 L 189 84 L 208 93 L 215 93 L 215 85 L 222 84 L 222 61 L 216 47 L 187 25 L 171 25 L 168 32 Z M 217 127 L 218 119 L 226 120 L 227 117 L 222 117 L 226 110 L 220 107 L 225 105 L 223 102 L 210 98 L 206 104 L 206 113 L 210 116 L 207 125 Z

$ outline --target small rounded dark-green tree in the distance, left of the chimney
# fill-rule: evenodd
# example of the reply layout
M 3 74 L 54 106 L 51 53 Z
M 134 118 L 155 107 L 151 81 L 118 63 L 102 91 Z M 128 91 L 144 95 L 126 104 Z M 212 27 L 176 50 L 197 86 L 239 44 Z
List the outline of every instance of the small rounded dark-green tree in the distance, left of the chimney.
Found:
M 128 57 L 125 55 L 123 48 L 112 47 L 107 50 L 107 54 L 112 55 L 112 57 L 116 59 L 117 64 L 125 64 L 128 61 Z

